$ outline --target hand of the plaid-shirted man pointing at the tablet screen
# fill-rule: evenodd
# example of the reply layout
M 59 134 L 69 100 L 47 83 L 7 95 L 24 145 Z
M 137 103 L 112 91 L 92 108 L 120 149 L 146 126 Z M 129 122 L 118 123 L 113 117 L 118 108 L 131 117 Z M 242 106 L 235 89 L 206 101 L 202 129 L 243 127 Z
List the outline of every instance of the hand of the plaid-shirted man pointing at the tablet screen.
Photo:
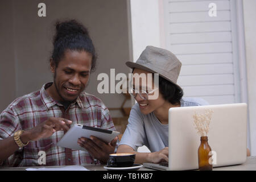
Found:
M 29 140 L 36 141 L 42 138 L 48 138 L 59 130 L 67 132 L 71 123 L 72 121 L 69 121 L 68 119 L 51 117 L 43 123 L 40 123 L 40 125 L 27 130 L 27 133 L 29 133 Z

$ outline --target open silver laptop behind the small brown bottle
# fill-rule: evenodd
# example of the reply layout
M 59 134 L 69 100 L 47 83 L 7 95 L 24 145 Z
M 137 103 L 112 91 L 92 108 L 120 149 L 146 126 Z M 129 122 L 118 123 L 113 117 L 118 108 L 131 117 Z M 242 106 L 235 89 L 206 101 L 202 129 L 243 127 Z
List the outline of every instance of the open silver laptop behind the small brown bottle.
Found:
M 212 120 L 208 143 L 214 152 L 213 167 L 242 164 L 246 161 L 247 105 L 225 104 L 174 107 L 169 110 L 169 161 L 144 163 L 147 168 L 159 170 L 198 169 L 197 150 L 200 135 L 193 125 L 193 113 L 211 109 Z

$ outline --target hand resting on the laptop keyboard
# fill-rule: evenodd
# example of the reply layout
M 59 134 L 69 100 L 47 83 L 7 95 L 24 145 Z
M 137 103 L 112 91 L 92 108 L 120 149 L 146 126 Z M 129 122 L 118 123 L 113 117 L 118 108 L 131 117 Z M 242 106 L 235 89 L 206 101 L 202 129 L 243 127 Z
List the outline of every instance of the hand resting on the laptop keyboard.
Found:
M 168 162 L 168 155 L 169 155 L 168 147 L 164 147 L 162 150 L 158 152 L 152 152 L 148 154 L 148 160 L 151 163 L 159 163 L 164 161 Z

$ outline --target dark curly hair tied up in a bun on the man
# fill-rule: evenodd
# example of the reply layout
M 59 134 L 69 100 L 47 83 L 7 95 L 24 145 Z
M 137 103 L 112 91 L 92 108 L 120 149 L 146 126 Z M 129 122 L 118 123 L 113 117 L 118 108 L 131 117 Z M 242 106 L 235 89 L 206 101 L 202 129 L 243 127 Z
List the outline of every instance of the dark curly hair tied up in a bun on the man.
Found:
M 86 51 L 92 55 L 92 68 L 96 67 L 97 55 L 90 39 L 87 28 L 85 28 L 77 20 L 67 20 L 64 22 L 56 22 L 56 33 L 53 37 L 52 60 L 57 68 L 60 60 L 63 58 L 67 49 L 72 51 Z

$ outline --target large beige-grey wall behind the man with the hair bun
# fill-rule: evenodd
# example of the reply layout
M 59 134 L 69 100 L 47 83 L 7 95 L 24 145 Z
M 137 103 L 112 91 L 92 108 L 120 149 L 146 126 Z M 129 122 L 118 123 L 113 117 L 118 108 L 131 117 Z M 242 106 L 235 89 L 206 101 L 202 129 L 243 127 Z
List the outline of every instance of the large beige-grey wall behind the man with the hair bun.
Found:
M 38 16 L 40 2 L 46 3 L 47 16 L 43 18 Z M 7 7 L 2 6 L 5 3 Z M 129 73 L 125 66 L 125 61 L 130 60 L 126 0 L 13 0 L 12 6 L 11 1 L 1 1 L 0 7 L 4 9 L 1 18 L 9 19 L 7 22 L 1 21 L 5 22 L 5 28 L 1 28 L 0 34 L 12 40 L 8 47 L 1 44 L 0 49 L 6 60 L 1 60 L 1 71 L 7 67 L 5 72 L 13 72 L 13 77 L 7 80 L 3 79 L 4 72 L 1 75 L 1 110 L 15 97 L 38 90 L 45 82 L 52 81 L 49 57 L 53 23 L 57 19 L 67 18 L 75 18 L 88 27 L 98 53 L 96 72 L 92 74 L 86 92 L 101 98 L 108 107 L 121 106 L 125 98 L 121 94 L 98 94 L 97 85 L 100 81 L 97 81 L 97 75 L 109 74 L 110 68 L 115 68 L 116 74 Z M 5 83 L 9 85 L 7 89 L 2 89 Z M 9 90 L 15 90 L 15 94 Z M 5 97 L 6 94 L 10 96 Z M 115 112 L 113 117 L 120 114 Z

